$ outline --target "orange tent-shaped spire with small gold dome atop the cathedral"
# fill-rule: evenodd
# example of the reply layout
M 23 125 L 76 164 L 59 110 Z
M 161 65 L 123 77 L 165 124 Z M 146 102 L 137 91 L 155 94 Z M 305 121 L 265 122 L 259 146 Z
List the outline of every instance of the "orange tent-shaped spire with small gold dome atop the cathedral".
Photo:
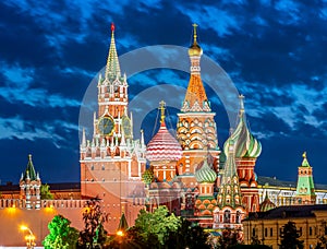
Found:
M 191 60 L 191 78 L 189 87 L 183 102 L 182 111 L 211 111 L 210 105 L 201 80 L 199 60 L 203 54 L 202 48 L 197 44 L 196 24 L 193 24 L 193 44 L 189 49 Z

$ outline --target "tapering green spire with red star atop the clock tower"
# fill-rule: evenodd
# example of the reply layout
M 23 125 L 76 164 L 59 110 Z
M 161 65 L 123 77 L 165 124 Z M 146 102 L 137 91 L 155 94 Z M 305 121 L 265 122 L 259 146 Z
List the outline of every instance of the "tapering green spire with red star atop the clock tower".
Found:
M 111 43 L 109 48 L 109 55 L 107 59 L 106 66 L 106 78 L 117 78 L 121 76 L 120 73 L 120 66 L 118 61 L 118 55 L 116 49 L 116 42 L 114 42 L 114 24 L 111 23 Z

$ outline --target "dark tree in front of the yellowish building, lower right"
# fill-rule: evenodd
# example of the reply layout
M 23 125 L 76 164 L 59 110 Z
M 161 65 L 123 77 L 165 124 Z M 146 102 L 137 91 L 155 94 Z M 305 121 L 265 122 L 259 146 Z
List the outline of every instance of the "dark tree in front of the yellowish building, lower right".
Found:
M 296 229 L 294 222 L 288 222 L 282 226 L 282 230 L 280 233 L 280 249 L 302 249 L 303 240 L 300 240 L 300 233 Z

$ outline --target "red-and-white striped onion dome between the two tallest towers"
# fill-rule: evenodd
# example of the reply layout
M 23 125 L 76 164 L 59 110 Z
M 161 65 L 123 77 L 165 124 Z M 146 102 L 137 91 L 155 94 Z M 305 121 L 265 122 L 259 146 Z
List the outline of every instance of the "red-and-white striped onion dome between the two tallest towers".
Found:
M 165 121 L 161 122 L 157 134 L 146 146 L 146 158 L 150 162 L 179 161 L 182 157 L 182 147 L 170 134 Z

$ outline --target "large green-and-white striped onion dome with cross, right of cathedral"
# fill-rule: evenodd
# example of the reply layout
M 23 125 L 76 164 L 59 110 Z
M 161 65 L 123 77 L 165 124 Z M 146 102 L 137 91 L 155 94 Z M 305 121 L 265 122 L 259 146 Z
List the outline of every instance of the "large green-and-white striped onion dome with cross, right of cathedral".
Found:
M 240 121 L 237 129 L 232 132 L 229 139 L 225 142 L 223 151 L 228 155 L 229 151 L 229 141 L 233 140 L 235 147 L 235 157 L 252 157 L 256 158 L 262 153 L 262 144 L 257 141 L 253 134 L 250 132 L 246 122 L 245 122 L 245 115 L 244 115 L 244 103 L 243 103 L 243 95 L 240 95 Z

